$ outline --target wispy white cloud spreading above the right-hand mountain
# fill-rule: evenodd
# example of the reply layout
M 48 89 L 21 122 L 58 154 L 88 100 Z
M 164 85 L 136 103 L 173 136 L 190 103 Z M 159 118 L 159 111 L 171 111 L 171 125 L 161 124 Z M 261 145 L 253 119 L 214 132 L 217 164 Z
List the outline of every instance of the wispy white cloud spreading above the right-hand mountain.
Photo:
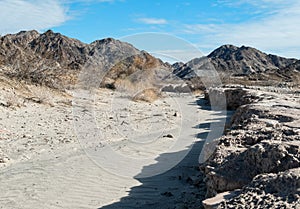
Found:
M 223 0 L 229 4 L 232 1 Z M 260 19 L 237 24 L 185 25 L 183 32 L 204 37 L 202 43 L 215 48 L 221 44 L 249 45 L 268 53 L 300 58 L 300 2 L 296 0 L 242 0 L 270 13 Z M 239 4 L 240 4 L 239 3 Z M 274 5 L 274 6 L 272 6 Z M 233 5 L 238 6 L 238 5 Z

